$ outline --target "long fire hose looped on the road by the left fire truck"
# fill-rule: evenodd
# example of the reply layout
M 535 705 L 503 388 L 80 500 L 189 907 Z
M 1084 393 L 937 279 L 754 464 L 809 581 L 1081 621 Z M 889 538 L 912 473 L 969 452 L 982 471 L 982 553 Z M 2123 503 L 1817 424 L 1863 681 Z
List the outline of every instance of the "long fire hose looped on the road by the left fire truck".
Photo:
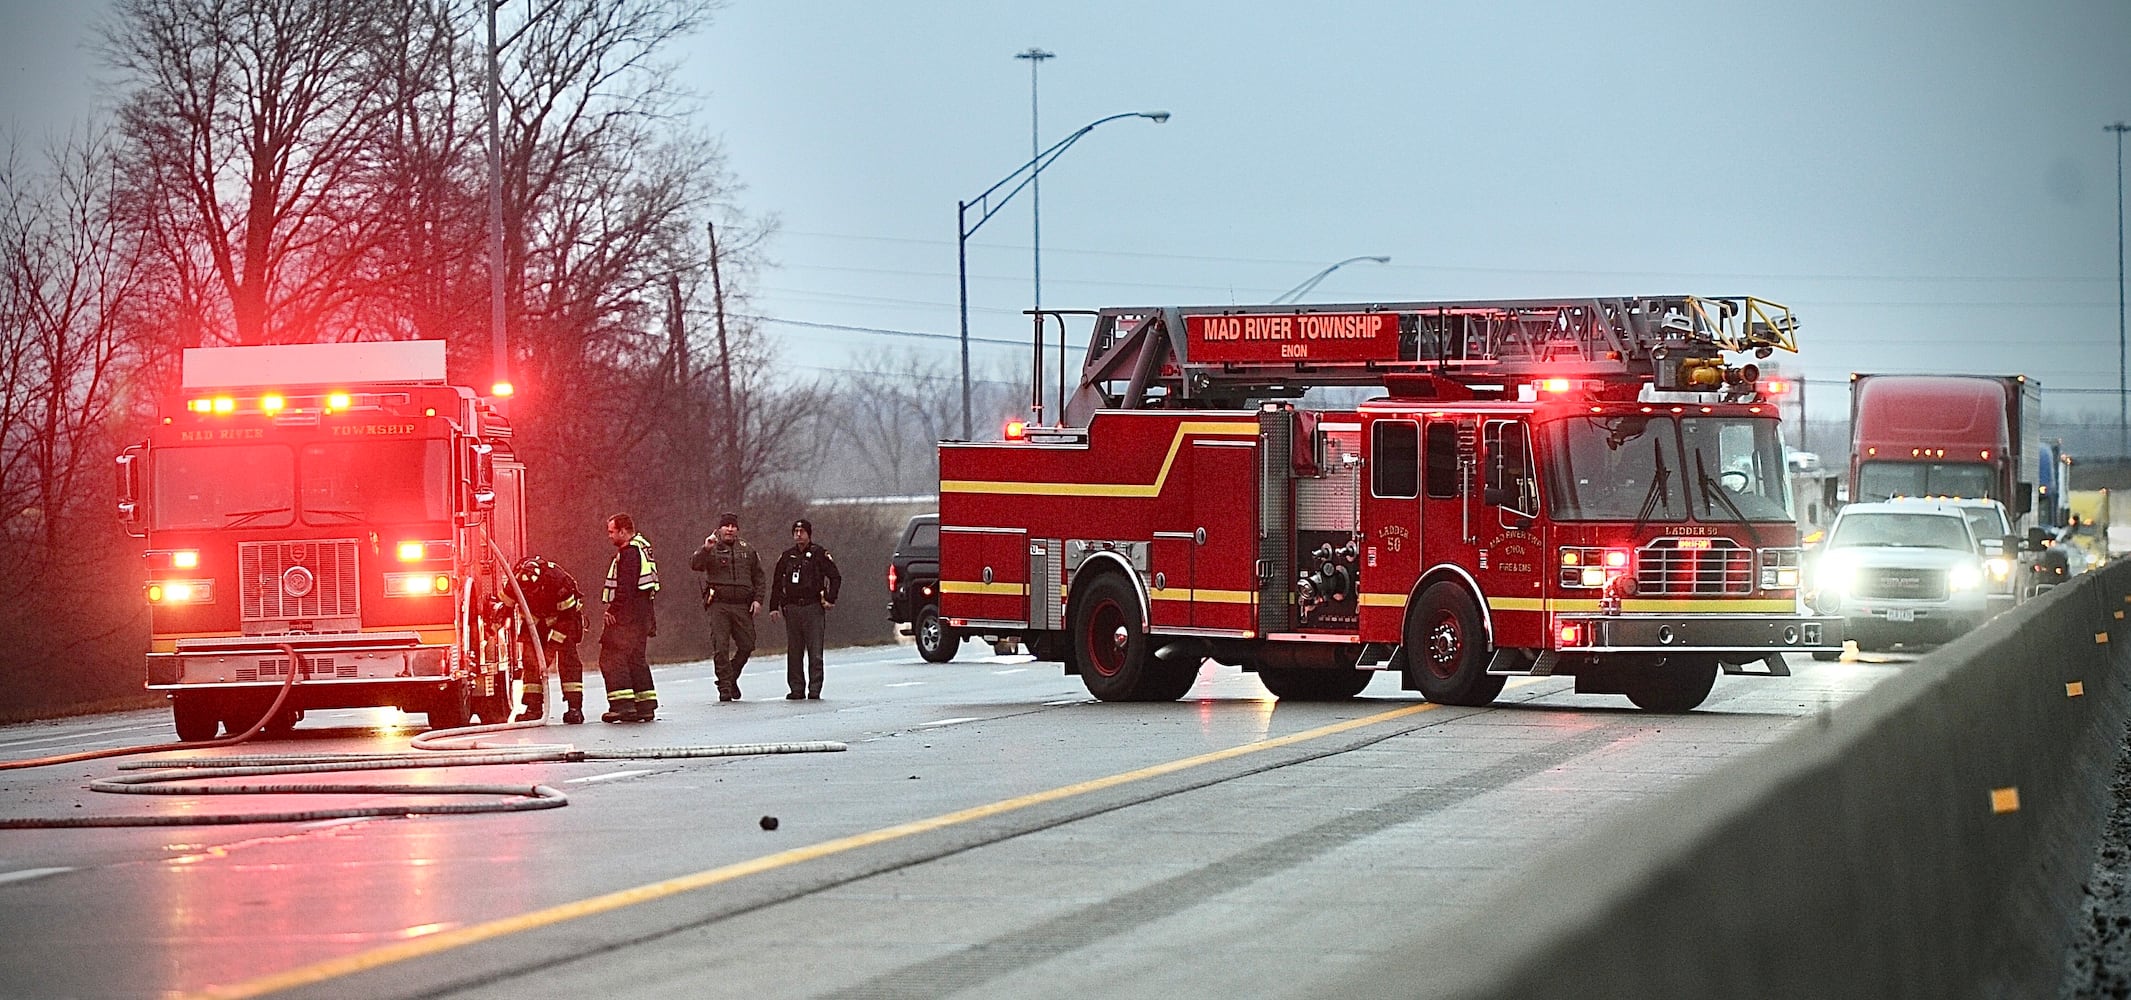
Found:
M 494 539 L 488 539 L 490 548 Z M 503 552 L 497 550 L 501 559 Z M 526 612 L 524 591 L 516 576 L 503 574 L 518 595 L 516 614 L 522 627 L 537 627 Z M 539 663 L 539 678 L 546 682 L 546 642 L 533 642 L 533 657 Z M 281 691 L 260 719 L 243 733 L 222 740 L 170 742 L 151 746 L 119 746 L 109 751 L 85 751 L 60 757 L 38 757 L 28 761 L 4 761 L 0 770 L 49 768 L 55 763 L 90 761 L 100 757 L 126 757 L 164 751 L 202 751 L 234 746 L 258 736 L 288 701 L 290 689 L 303 674 L 303 657 L 290 644 L 281 644 L 288 655 L 288 678 Z M 341 806 L 279 812 L 183 812 L 153 817 L 19 817 L 0 819 L 0 829 L 83 829 L 83 827 L 196 827 L 196 825 L 241 825 L 241 823 L 315 823 L 326 819 L 369 819 L 369 817 L 413 817 L 413 814 L 477 814 L 477 812 L 526 812 L 539 808 L 563 808 L 569 795 L 550 785 L 367 785 L 367 783 L 300 783 L 300 785 L 200 785 L 198 778 L 262 778 L 283 774 L 328 774 L 364 770 L 409 770 L 409 768 L 484 768 L 511 763 L 582 763 L 582 761 L 646 761 L 646 759 L 690 759 L 690 757 L 752 757 L 776 753 L 840 753 L 842 742 L 759 742 L 759 744 L 712 744 L 712 746 L 646 746 L 629 751 L 580 751 L 573 744 L 494 744 L 484 742 L 488 733 L 511 729 L 537 729 L 548 725 L 541 719 L 524 723 L 486 723 L 456 729 L 430 729 L 416 736 L 409 746 L 416 753 L 326 753 L 326 755 L 243 755 L 243 757 L 185 757 L 173 761 L 134 761 L 119 770 L 149 770 L 147 774 L 126 774 L 98 778 L 90 791 L 117 795 L 503 795 L 501 802 L 424 802 L 398 806 Z M 448 746 L 460 744 L 465 746 Z M 151 770 L 153 768 L 153 770 Z M 190 774 L 207 772 L 207 774 Z

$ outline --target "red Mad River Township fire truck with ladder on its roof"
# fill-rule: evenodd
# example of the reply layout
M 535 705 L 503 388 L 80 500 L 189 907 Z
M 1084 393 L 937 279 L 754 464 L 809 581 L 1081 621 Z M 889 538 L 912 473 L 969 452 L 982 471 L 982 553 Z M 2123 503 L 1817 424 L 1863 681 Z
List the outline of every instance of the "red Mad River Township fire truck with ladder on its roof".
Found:
M 1377 670 L 1432 701 L 1513 674 L 1686 712 L 1718 672 L 1839 650 L 1799 601 L 1777 407 L 1726 354 L 1758 299 L 1102 309 L 1059 420 L 940 446 L 940 612 L 1106 701 L 1204 659 L 1285 699 Z M 1319 386 L 1381 386 L 1345 409 Z M 1351 390 L 1360 399 L 1366 390 Z

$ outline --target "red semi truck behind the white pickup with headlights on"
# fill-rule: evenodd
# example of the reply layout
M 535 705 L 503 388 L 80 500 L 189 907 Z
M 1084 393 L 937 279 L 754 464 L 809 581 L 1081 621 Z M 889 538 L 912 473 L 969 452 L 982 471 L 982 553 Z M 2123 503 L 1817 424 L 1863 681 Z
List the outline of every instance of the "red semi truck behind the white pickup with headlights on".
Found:
M 1984 497 L 2035 525 L 2041 384 L 2027 375 L 1850 375 L 1850 499 Z

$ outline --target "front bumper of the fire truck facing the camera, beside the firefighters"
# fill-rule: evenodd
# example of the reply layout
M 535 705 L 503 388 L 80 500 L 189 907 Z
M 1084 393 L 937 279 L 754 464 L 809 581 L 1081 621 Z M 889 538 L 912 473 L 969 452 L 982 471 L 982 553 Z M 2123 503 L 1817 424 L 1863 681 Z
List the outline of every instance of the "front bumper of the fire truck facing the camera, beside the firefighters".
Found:
M 422 644 L 416 631 L 364 631 L 347 635 L 243 635 L 177 640 L 175 652 L 147 655 L 149 691 L 198 687 L 279 687 L 290 674 L 288 652 L 296 650 L 305 684 L 377 684 L 448 680 L 456 667 L 454 648 Z

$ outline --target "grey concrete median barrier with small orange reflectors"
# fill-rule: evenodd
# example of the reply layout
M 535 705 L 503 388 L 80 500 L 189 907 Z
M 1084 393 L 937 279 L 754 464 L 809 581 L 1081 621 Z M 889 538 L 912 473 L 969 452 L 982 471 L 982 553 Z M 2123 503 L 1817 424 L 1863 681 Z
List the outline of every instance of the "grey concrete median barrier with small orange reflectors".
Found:
M 1328 996 L 2056 996 L 2131 712 L 2131 563 L 1566 844 Z

